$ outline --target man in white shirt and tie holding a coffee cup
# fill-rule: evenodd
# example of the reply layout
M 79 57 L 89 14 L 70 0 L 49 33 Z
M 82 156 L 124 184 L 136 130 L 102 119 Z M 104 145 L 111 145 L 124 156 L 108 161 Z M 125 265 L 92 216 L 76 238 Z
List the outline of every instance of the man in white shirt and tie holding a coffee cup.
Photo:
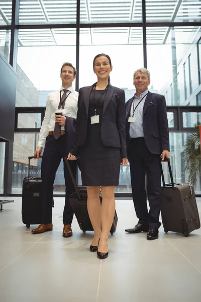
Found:
M 53 228 L 53 184 L 61 159 L 68 154 L 67 149 L 71 147 L 70 145 L 66 147 L 69 142 L 66 141 L 68 133 L 65 126 L 69 120 L 71 121 L 71 119 L 74 122 L 77 115 L 78 92 L 74 91 L 72 88 L 72 82 L 74 81 L 75 76 L 76 69 L 73 65 L 71 63 L 63 63 L 60 73 L 62 87 L 59 91 L 52 92 L 47 97 L 45 117 L 39 133 L 38 147 L 34 153 L 34 156 L 39 158 L 42 149 L 45 146 L 41 165 L 41 224 L 37 229 L 32 230 L 32 234 L 41 234 L 47 231 L 52 231 Z M 62 112 L 62 115 L 56 115 L 56 112 Z M 72 161 L 69 164 L 75 176 L 76 162 Z M 73 193 L 74 187 L 65 163 L 64 177 L 66 194 L 63 211 L 63 237 L 71 237 L 73 210 L 69 203 L 69 197 Z

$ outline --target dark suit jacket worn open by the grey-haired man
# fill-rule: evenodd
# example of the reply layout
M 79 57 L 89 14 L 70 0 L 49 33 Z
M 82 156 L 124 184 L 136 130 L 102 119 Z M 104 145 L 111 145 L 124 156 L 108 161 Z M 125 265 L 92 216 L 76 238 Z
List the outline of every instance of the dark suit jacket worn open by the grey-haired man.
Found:
M 133 98 L 126 102 L 126 142 L 129 153 L 130 123 L 128 122 Z M 157 93 L 148 92 L 143 107 L 144 139 L 149 151 L 161 154 L 162 150 L 169 150 L 169 129 L 165 97 Z

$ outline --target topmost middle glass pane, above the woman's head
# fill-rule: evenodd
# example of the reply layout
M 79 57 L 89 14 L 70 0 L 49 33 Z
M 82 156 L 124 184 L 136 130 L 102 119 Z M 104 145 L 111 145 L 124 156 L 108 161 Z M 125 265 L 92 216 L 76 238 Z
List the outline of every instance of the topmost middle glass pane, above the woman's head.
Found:
M 80 2 L 81 23 L 142 22 L 142 0 L 102 0 Z

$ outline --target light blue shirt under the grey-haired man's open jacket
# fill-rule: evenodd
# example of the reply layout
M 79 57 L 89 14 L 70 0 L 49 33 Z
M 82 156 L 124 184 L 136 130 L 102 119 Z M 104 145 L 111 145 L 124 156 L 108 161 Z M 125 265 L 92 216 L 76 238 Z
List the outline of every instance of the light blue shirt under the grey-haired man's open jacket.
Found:
M 142 123 L 143 123 L 143 107 L 144 107 L 144 103 L 145 103 L 147 94 L 148 94 L 148 89 L 146 91 L 144 91 L 143 93 L 141 93 L 139 99 L 137 98 L 136 93 L 134 95 L 134 100 L 131 105 L 130 116 L 133 116 L 133 110 L 136 108 L 136 106 L 142 100 L 143 97 L 144 97 L 144 99 L 142 100 L 142 102 L 140 102 L 138 107 L 135 109 L 135 112 L 134 112 L 135 122 L 130 123 L 130 130 L 129 130 L 130 138 L 144 136 L 143 125 L 142 125 Z

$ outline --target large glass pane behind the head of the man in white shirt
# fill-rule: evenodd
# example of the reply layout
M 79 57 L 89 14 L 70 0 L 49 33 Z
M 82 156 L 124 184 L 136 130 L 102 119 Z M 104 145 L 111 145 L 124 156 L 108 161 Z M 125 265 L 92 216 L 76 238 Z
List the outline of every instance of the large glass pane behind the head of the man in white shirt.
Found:
M 76 30 L 19 30 L 19 38 L 16 106 L 46 106 L 48 94 L 61 87 L 62 64 L 76 64 Z

